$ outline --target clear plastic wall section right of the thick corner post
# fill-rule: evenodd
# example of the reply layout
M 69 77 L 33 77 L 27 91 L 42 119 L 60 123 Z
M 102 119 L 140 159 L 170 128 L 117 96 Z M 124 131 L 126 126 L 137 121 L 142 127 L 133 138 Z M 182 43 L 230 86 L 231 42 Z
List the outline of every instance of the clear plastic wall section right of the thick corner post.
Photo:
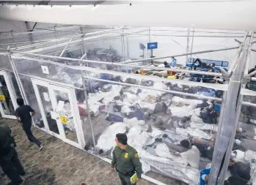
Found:
M 251 84 L 252 87 L 252 84 Z M 250 94 L 255 94 L 251 92 Z M 243 95 L 241 95 L 243 96 Z M 244 95 L 224 184 L 256 184 L 256 98 Z

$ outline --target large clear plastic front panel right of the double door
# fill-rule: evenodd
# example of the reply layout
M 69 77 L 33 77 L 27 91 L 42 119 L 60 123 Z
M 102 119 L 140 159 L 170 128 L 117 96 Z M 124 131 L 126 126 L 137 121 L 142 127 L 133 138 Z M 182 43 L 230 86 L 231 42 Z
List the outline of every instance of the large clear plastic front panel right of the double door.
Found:
M 138 80 L 139 75 L 86 74 L 96 154 L 111 159 L 115 135 L 126 133 L 147 175 L 164 183 L 168 181 L 163 175 L 197 184 L 200 170 L 211 165 L 219 122 L 221 102 L 207 99 L 216 97 L 213 89 Z M 203 92 L 206 99 L 198 98 Z M 187 151 L 186 144 L 198 149 L 197 167 L 189 166 L 185 156 L 173 154 Z

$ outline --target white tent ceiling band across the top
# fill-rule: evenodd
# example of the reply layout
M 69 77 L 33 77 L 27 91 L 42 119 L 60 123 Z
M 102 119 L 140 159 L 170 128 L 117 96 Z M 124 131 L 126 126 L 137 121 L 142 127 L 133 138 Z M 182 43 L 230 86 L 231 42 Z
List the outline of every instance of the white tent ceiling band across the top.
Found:
M 40 23 L 256 30 L 256 1 L 94 5 L 0 5 L 0 18 Z

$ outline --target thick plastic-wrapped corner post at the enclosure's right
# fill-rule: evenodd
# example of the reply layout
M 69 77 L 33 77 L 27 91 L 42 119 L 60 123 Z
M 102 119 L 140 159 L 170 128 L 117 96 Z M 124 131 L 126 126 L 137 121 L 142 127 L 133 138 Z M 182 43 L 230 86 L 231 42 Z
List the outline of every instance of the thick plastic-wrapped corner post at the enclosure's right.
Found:
M 248 33 L 246 33 L 248 34 Z M 227 94 L 224 97 L 227 98 L 227 102 L 224 102 L 224 110 L 221 113 L 218 134 L 216 137 L 216 143 L 213 151 L 213 160 L 211 163 L 211 173 L 208 184 L 222 185 L 224 182 L 224 173 L 222 170 L 227 170 L 228 162 L 230 161 L 230 154 L 233 147 L 233 137 L 235 137 L 236 125 L 234 124 L 237 118 L 237 97 L 240 93 L 241 78 L 244 72 L 244 66 L 246 63 L 249 39 L 244 42 L 244 49 L 241 53 L 241 57 L 238 58 L 237 67 L 230 78 L 230 83 L 227 89 Z M 238 107 L 239 108 L 239 107 Z

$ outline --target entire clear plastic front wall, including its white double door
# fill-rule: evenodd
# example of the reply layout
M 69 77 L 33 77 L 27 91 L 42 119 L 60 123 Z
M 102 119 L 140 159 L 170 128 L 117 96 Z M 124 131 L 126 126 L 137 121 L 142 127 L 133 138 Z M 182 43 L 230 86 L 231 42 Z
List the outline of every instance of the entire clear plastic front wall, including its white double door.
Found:
M 221 89 L 207 88 L 205 83 L 181 85 L 180 80 L 166 78 L 150 80 L 126 71 L 113 74 L 100 68 L 76 67 L 76 61 L 66 59 L 66 65 L 75 65 L 65 67 L 16 54 L 12 58 L 29 104 L 41 107 L 35 118 L 37 126 L 48 127 L 59 138 L 64 135 L 65 142 L 79 143 L 82 136 L 85 150 L 111 159 L 115 135 L 126 133 L 128 144 L 139 152 L 144 173 L 166 184 L 168 178 L 197 184 L 200 170 L 211 165 Z M 75 94 L 69 97 L 70 90 L 62 88 L 73 89 Z M 60 102 L 64 105 L 58 111 Z M 70 107 L 76 107 L 77 114 L 68 112 Z M 67 117 L 62 128 L 52 112 Z M 77 118 L 81 127 L 74 127 L 79 123 Z M 193 157 L 184 153 L 189 148 Z

